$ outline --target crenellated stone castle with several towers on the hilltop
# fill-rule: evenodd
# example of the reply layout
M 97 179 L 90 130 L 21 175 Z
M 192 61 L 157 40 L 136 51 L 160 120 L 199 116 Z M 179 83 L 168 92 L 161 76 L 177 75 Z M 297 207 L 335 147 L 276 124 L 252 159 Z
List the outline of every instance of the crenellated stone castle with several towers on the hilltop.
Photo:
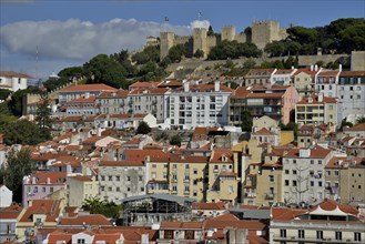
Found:
M 221 34 L 207 35 L 204 28 L 195 28 L 193 35 L 176 35 L 173 32 L 161 32 L 160 40 L 149 37 L 148 45 L 160 44 L 160 59 L 162 60 L 169 54 L 169 50 L 176 44 L 185 44 L 189 54 L 193 54 L 196 50 L 202 50 L 204 55 L 217 45 L 221 41 L 236 40 L 237 42 L 252 42 L 258 49 L 264 49 L 272 41 L 278 41 L 286 38 L 286 29 L 281 29 L 277 21 L 254 21 L 251 27 L 251 33 L 235 32 L 234 26 L 224 26 Z

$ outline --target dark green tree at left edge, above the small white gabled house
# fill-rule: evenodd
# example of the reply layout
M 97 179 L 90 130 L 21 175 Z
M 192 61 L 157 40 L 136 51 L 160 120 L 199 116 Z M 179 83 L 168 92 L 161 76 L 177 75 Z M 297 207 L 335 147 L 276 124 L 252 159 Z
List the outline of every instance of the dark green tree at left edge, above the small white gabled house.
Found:
M 0 169 L 0 184 L 7 185 L 13 193 L 13 201 L 22 201 L 22 180 L 36 170 L 36 162 L 29 150 L 10 151 L 8 162 Z

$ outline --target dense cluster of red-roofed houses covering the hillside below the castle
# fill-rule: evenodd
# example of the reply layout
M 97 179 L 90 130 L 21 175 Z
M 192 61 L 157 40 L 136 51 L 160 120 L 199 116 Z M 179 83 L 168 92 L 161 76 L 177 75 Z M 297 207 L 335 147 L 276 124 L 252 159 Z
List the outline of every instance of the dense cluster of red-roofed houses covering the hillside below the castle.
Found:
M 22 179 L 21 204 L 0 187 L 0 243 L 365 240 L 365 123 L 339 130 L 365 114 L 365 72 L 253 69 L 129 91 L 80 84 L 54 104 L 53 140 L 0 142 L 0 164 L 21 149 L 37 162 Z M 247 133 L 236 129 L 245 111 Z M 294 120 L 296 135 L 281 130 Z M 129 130 L 142 121 L 154 132 Z M 93 197 L 122 204 L 120 218 L 83 210 Z

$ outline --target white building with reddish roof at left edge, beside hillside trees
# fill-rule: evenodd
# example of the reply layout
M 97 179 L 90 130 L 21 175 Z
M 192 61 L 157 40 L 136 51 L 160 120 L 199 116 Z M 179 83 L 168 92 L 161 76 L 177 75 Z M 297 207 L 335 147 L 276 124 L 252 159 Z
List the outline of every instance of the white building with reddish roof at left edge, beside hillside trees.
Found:
M 27 82 L 31 79 L 28 74 L 13 71 L 0 71 L 0 89 L 8 89 L 13 92 L 27 89 Z

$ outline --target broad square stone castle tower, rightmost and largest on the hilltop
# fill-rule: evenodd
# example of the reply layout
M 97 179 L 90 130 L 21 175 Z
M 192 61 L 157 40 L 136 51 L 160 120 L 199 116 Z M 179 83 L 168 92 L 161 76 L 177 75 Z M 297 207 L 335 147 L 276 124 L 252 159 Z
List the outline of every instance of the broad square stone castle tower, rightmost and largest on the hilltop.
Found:
M 252 23 L 252 42 L 258 49 L 264 49 L 272 41 L 284 39 L 285 33 L 285 30 L 280 29 L 277 21 L 255 21 Z

